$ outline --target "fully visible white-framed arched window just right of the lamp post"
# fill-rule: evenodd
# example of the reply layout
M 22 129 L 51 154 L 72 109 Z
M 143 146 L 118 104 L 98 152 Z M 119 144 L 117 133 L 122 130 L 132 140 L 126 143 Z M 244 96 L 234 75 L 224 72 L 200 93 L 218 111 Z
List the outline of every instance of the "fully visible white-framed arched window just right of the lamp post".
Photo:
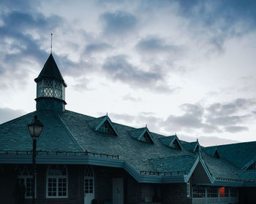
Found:
M 46 197 L 67 197 L 68 177 L 64 165 L 49 165 L 47 170 Z

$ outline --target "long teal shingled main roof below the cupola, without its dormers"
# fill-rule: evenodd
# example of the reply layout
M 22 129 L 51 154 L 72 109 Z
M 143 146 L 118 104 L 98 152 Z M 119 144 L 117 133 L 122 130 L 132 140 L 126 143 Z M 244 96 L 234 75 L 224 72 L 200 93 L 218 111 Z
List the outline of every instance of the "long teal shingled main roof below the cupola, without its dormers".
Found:
M 63 112 L 51 110 L 34 111 L 0 125 L 0 150 L 30 151 L 32 149 L 31 138 L 26 124 L 31 122 L 34 114 L 37 114 L 40 121 L 45 125 L 37 143 L 38 151 L 88 151 L 99 154 L 118 154 L 120 160 L 129 163 L 138 172 L 140 170 L 188 171 L 192 168 L 195 158 L 199 155 L 185 148 L 180 151 L 166 146 L 162 143 L 162 140 L 165 140 L 165 136 L 157 133 L 150 133 L 154 139 L 154 144 L 137 141 L 130 136 L 130 132 L 138 129 L 115 122 L 113 122 L 113 125 L 118 131 L 118 136 L 106 136 L 105 133 L 95 131 L 91 127 L 95 121 L 95 124 L 97 124 L 104 117 L 97 119 L 67 110 Z M 141 133 L 141 130 L 139 132 Z M 252 143 L 252 146 L 254 144 L 256 143 Z M 251 143 L 248 143 L 248 146 L 250 145 Z M 184 146 L 184 142 L 182 142 L 182 146 Z M 223 148 L 218 148 L 218 151 L 222 150 L 222 154 L 224 154 L 225 150 Z M 248 154 L 251 153 L 245 154 L 249 157 Z M 214 178 L 239 178 L 239 176 L 246 178 L 246 175 L 252 177 L 253 173 L 243 173 L 225 159 L 217 159 L 206 153 L 202 155 Z M 231 152 L 230 157 L 233 156 L 234 154 Z

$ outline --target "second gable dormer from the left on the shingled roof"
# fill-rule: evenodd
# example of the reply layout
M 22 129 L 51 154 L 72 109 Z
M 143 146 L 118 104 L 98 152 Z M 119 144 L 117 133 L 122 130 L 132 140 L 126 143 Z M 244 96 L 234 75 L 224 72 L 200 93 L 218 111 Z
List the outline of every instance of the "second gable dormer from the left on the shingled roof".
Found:
M 151 144 L 154 144 L 153 137 L 148 130 L 148 127 L 142 127 L 135 130 L 129 130 L 129 135 L 132 136 L 135 140 L 145 141 Z

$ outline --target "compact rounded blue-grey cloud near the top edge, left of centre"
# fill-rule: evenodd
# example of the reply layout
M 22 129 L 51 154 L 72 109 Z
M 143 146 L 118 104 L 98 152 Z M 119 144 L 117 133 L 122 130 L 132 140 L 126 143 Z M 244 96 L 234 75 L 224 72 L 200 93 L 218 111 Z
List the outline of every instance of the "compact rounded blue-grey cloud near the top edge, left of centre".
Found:
M 137 24 L 137 18 L 123 11 L 105 12 L 99 17 L 104 25 L 105 34 L 126 34 L 133 30 Z

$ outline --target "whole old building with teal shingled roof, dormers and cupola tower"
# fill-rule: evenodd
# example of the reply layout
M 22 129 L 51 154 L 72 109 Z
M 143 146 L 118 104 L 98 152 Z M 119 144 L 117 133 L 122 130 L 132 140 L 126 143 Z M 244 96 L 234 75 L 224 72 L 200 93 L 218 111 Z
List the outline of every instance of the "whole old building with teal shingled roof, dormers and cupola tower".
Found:
M 200 146 L 65 109 L 65 88 L 50 54 L 37 79 L 37 109 L 0 125 L 0 200 L 15 203 L 18 179 L 31 203 L 37 140 L 36 203 L 256 203 L 256 142 Z M 174 130 L 175 131 L 175 130 Z

